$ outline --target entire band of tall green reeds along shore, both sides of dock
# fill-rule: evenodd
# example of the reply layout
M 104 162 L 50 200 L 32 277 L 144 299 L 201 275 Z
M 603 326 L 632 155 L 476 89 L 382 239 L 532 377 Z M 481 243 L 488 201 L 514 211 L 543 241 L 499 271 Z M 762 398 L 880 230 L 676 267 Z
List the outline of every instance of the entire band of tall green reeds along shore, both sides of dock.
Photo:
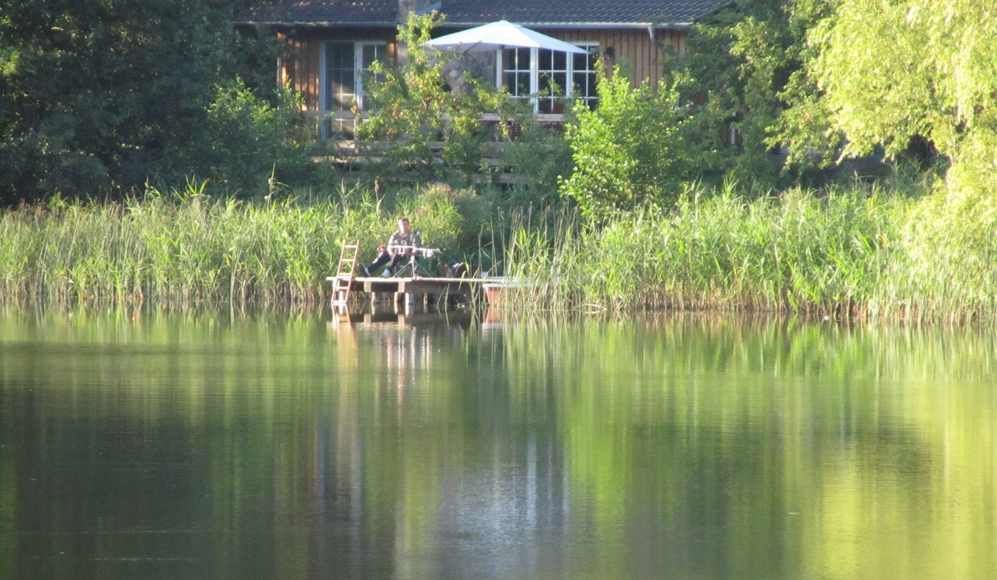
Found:
M 312 304 L 342 240 L 363 259 L 409 215 L 447 259 L 529 282 L 516 312 L 768 311 L 967 323 L 997 316 L 997 248 L 981 216 L 943 191 L 855 182 L 751 197 L 689 186 L 672 207 L 592 222 L 566 210 L 502 210 L 498 194 L 442 183 L 376 194 L 252 202 L 149 188 L 123 202 L 0 212 L 7 301 Z M 368 255 L 371 254 L 371 255 Z

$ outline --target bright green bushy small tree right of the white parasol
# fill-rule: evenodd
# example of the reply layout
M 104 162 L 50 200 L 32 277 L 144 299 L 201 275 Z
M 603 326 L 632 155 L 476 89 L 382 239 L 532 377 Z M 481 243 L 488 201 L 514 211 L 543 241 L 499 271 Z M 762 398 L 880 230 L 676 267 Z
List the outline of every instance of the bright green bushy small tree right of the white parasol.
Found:
M 607 75 L 596 66 L 599 107 L 576 108 L 566 126 L 574 172 L 560 184 L 588 218 L 648 202 L 674 201 L 678 183 L 694 176 L 685 144 L 678 95 L 664 83 L 652 90 L 645 80 L 632 88 L 618 67 Z

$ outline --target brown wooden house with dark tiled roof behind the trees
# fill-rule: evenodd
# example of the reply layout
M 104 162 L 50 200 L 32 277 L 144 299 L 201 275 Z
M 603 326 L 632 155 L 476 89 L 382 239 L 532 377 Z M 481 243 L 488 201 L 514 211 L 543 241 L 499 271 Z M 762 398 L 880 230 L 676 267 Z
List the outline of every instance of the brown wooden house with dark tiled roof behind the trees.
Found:
M 498 51 L 498 86 L 529 99 L 538 115 L 556 121 L 558 100 L 594 107 L 594 64 L 625 63 L 636 86 L 657 83 L 662 61 L 685 51 L 694 21 L 729 0 L 276 0 L 243 14 L 240 26 L 266 27 L 285 43 L 277 81 L 304 96 L 305 114 L 329 119 L 323 133 L 349 135 L 353 103 L 364 109 L 363 74 L 375 60 L 398 55 L 398 25 L 411 12 L 446 15 L 434 32 L 447 34 L 508 20 L 587 51 L 566 55 L 539 49 Z M 498 65 L 498 63 L 501 63 Z M 500 68 L 500 70 L 498 70 Z

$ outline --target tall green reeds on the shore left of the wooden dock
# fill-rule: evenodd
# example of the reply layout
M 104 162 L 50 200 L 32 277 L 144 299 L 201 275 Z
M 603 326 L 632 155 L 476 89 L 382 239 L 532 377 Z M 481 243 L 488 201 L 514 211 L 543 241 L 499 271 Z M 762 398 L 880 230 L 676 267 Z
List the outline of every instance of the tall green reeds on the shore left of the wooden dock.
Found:
M 124 203 L 57 198 L 0 213 L 0 296 L 164 305 L 315 301 L 343 239 L 365 237 L 373 248 L 394 229 L 395 216 L 381 201 L 344 191 L 321 202 L 250 203 L 193 186 L 150 189 Z M 424 217 L 431 228 L 450 227 L 447 218 Z

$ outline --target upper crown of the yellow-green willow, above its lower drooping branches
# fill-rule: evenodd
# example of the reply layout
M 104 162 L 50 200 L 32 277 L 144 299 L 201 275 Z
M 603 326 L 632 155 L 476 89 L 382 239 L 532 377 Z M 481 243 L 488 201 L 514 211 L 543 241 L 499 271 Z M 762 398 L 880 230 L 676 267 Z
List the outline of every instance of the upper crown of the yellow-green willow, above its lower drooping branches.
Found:
M 896 156 L 916 138 L 953 161 L 988 150 L 978 145 L 997 134 L 992 2 L 842 0 L 814 38 L 814 72 L 846 153 L 882 145 Z

